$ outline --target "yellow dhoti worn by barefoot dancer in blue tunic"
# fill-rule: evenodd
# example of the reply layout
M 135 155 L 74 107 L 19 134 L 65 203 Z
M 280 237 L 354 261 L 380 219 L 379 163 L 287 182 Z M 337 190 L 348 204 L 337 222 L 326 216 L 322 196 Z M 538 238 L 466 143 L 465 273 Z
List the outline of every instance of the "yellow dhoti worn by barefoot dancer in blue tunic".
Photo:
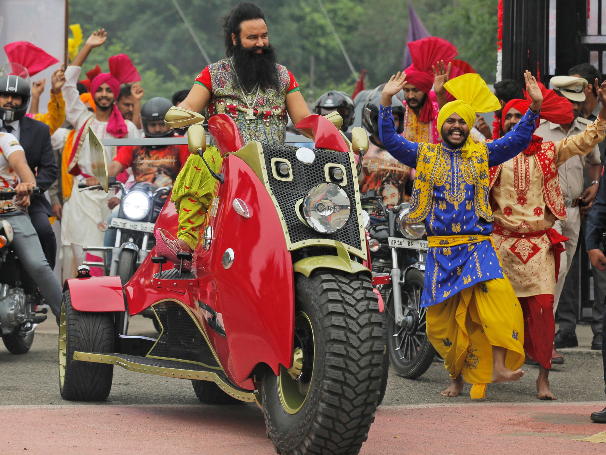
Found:
M 507 276 L 429 306 L 427 337 L 450 377 L 462 374 L 472 384 L 471 398 L 484 398 L 493 372 L 492 346 L 507 349 L 507 368 L 516 370 L 524 363 L 524 317 Z

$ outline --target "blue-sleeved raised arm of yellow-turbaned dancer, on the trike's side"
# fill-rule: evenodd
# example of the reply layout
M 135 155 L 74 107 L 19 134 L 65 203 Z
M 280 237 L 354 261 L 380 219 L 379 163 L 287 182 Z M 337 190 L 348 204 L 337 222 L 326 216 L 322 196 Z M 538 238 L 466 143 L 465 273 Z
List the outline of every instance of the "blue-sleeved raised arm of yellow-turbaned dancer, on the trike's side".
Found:
M 410 167 L 416 167 L 419 144 L 398 134 L 391 114 L 391 98 L 406 85 L 406 73 L 391 76 L 383 87 L 379 109 L 379 138 L 392 157 Z M 404 121 L 403 118 L 400 121 Z

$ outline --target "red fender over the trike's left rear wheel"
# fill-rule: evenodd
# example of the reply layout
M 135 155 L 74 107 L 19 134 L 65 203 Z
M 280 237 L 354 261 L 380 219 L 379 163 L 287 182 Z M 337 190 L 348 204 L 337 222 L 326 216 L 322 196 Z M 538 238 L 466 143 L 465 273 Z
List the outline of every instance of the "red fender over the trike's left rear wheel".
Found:
M 65 280 L 63 291 L 70 291 L 77 311 L 124 311 L 124 292 L 120 277 L 73 278 Z

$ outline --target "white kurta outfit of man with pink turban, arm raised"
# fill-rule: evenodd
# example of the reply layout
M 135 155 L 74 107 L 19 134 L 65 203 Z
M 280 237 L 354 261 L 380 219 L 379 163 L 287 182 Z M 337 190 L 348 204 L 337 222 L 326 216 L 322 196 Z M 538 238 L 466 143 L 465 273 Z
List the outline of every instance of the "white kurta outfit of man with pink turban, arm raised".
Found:
M 79 66 L 68 66 L 67 70 L 65 70 L 65 84 L 62 89 L 63 98 L 65 99 L 65 119 L 75 127 L 76 132 L 79 132 L 87 120 L 94 115 L 80 99 L 78 89 L 76 88 L 79 75 Z M 126 124 L 128 127 L 127 137 L 138 138 L 139 133 L 135 124 L 128 120 L 126 120 Z M 107 122 L 93 119 L 90 126 L 99 139 L 115 137 L 107 132 Z M 115 155 L 114 149 L 115 147 L 105 147 L 108 163 L 112 161 L 113 155 Z M 82 143 L 78 156 L 78 167 L 83 174 L 93 175 L 88 138 L 85 138 Z M 71 277 L 70 275 L 72 275 L 72 271 L 66 271 L 66 268 L 73 269 L 74 266 L 81 265 L 84 260 L 85 255 L 82 252 L 82 246 L 103 245 L 104 233 L 97 229 L 97 223 L 107 220 L 112 212 L 107 207 L 107 201 L 114 196 L 112 191 L 108 193 L 102 190 L 80 192 L 78 190 L 80 181 L 78 177 L 73 179 L 74 187 L 72 195 L 63 206 L 61 246 L 66 260 L 64 264 L 64 278 Z M 68 247 L 68 250 L 66 251 L 63 247 Z M 72 259 L 75 263 L 72 263 L 69 257 L 65 257 L 66 255 L 70 255 L 69 250 L 71 250 L 71 254 L 74 256 Z

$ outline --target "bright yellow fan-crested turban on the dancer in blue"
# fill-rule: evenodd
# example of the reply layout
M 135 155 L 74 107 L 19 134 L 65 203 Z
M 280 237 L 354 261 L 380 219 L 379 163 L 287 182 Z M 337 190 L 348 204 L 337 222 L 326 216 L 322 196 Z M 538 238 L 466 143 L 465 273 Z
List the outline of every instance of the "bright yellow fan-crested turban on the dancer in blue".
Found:
M 484 80 L 475 73 L 468 73 L 451 79 L 444 84 L 444 88 L 456 98 L 454 101 L 445 104 L 438 113 L 438 131 L 442 134 L 442 125 L 453 113 L 458 113 L 469 129 L 476 123 L 476 112 L 491 112 L 501 109 L 501 103 L 496 96 L 490 92 L 490 89 Z M 478 146 L 467 137 L 463 144 L 462 157 L 467 158 L 478 149 Z

